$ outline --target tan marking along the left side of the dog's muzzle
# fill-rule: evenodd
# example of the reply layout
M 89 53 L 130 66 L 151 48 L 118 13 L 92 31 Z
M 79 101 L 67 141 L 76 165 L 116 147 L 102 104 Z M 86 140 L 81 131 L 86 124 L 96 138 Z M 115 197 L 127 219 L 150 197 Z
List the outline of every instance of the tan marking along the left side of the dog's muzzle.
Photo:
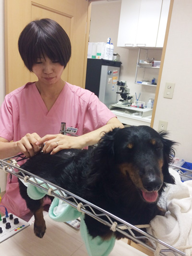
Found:
M 142 180 L 139 176 L 138 170 L 135 169 L 132 165 L 132 163 L 123 163 L 120 165 L 120 171 L 122 174 L 127 175 L 129 174 L 132 183 L 139 188 L 139 189 L 144 189 Z

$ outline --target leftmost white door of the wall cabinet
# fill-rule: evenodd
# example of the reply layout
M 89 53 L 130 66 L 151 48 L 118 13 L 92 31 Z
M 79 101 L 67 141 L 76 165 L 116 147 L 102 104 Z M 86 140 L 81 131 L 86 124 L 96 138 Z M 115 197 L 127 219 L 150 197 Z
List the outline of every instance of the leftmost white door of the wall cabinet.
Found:
M 122 0 L 117 46 L 135 46 L 140 5 L 141 0 Z

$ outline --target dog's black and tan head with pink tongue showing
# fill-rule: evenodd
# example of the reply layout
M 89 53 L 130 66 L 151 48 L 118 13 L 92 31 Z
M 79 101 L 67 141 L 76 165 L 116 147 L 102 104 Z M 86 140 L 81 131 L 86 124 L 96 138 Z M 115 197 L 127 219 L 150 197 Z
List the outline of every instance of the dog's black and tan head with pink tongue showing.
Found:
M 167 132 L 157 133 L 148 126 L 114 129 L 101 139 L 97 159 L 104 172 L 118 169 L 131 179 L 144 201 L 155 202 L 165 183 L 174 184 L 168 164 L 176 143 L 166 136 Z

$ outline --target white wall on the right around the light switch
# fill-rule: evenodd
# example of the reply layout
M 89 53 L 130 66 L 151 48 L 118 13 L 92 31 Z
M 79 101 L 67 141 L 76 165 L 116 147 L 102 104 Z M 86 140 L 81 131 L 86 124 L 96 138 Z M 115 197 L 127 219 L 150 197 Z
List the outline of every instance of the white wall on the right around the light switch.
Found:
M 192 0 L 174 0 L 154 128 L 168 122 L 170 137 L 180 143 L 177 156 L 192 162 Z M 172 99 L 165 83 L 175 83 Z

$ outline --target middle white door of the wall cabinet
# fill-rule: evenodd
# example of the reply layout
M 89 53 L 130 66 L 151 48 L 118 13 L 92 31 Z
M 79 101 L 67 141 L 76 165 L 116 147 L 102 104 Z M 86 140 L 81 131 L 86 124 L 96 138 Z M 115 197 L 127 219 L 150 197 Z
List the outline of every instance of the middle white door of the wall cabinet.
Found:
M 156 47 L 162 0 L 142 0 L 135 46 Z

